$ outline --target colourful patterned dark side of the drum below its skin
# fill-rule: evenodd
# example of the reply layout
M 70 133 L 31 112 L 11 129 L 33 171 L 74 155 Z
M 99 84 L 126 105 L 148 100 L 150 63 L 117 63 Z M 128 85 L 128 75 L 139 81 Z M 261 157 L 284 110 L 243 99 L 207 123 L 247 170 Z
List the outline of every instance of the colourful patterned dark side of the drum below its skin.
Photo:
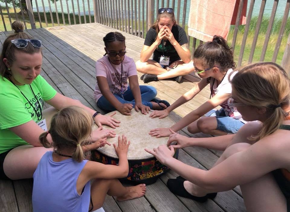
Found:
M 100 153 L 98 150 L 92 151 L 92 161 L 102 164 L 118 165 L 118 159 Z M 178 149 L 175 150 L 174 158 L 178 159 Z M 130 184 L 145 183 L 150 185 L 156 182 L 158 177 L 169 171 L 169 168 L 155 157 L 144 160 L 129 160 L 129 173 L 127 177 L 119 179 L 121 182 Z

